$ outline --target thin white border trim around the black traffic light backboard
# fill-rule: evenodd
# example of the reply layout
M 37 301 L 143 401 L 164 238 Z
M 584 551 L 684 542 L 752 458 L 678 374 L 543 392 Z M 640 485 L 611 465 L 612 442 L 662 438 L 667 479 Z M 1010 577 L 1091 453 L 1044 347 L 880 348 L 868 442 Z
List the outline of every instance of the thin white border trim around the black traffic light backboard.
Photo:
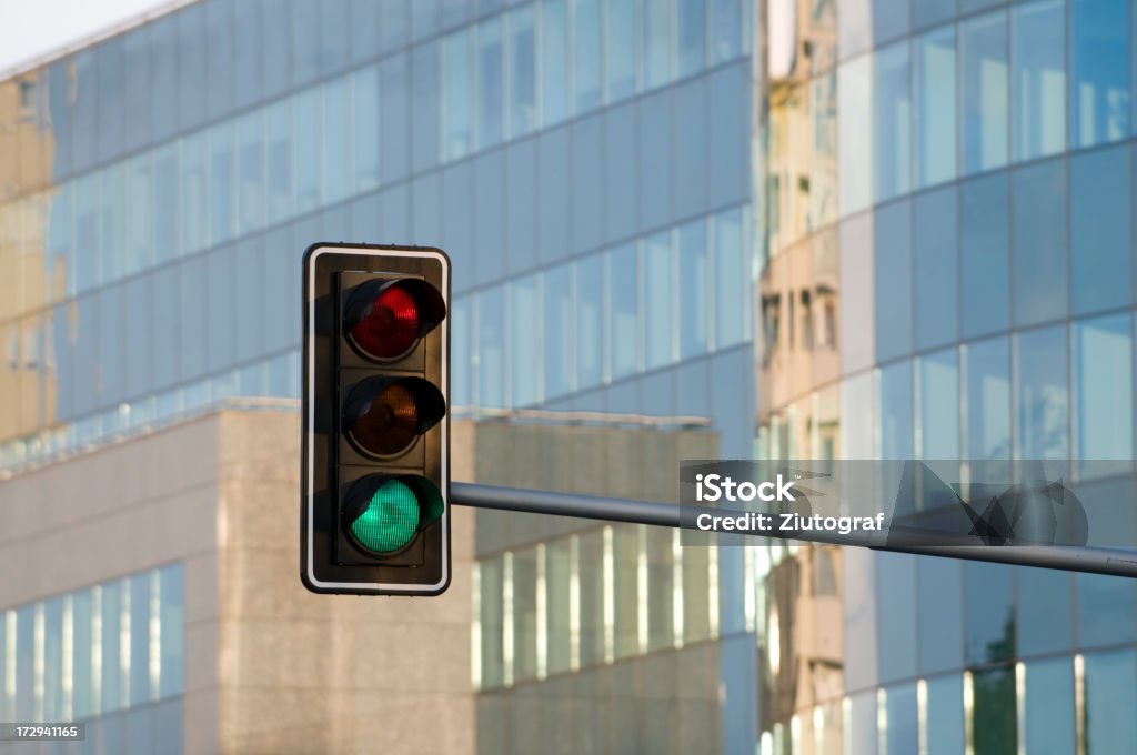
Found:
M 430 257 L 437 259 L 442 266 L 442 300 L 449 304 L 450 300 L 450 263 L 446 258 L 446 255 L 439 254 L 434 250 L 426 249 L 367 249 L 364 247 L 322 247 L 317 246 L 315 251 L 308 256 L 308 313 L 307 321 L 305 322 L 305 327 L 310 326 L 312 323 L 316 321 L 316 259 L 324 252 L 333 255 L 359 255 L 359 256 L 375 256 L 379 254 L 398 254 L 406 257 Z M 449 343 L 450 337 L 450 312 L 449 306 L 447 307 L 446 318 L 442 320 L 442 343 Z M 315 416 L 316 406 L 316 391 L 314 390 L 316 384 L 316 359 L 314 354 L 314 341 L 315 339 L 308 339 L 308 354 L 306 355 L 308 362 L 308 428 L 307 428 L 307 443 L 308 443 L 308 488 L 305 490 L 305 495 L 308 498 L 308 582 L 315 587 L 319 588 L 348 588 L 348 589 L 373 589 L 373 590 L 392 590 L 397 592 L 421 592 L 423 590 L 440 590 L 450 579 L 450 558 L 449 554 L 442 561 L 442 576 L 434 584 L 407 584 L 405 582 L 322 582 L 316 579 L 315 563 L 313 561 L 313 546 L 315 545 L 315 528 L 312 523 L 315 522 L 315 454 L 312 453 L 313 440 L 315 433 L 312 430 L 312 418 Z M 449 349 L 442 349 L 442 396 L 450 396 L 450 355 Z M 450 451 L 450 421 L 449 421 L 449 405 L 447 406 L 447 418 L 442 423 L 442 484 L 439 492 L 442 495 L 442 503 L 446 505 L 446 514 L 442 516 L 442 542 L 449 541 L 449 508 L 450 508 L 450 461 L 448 458 Z

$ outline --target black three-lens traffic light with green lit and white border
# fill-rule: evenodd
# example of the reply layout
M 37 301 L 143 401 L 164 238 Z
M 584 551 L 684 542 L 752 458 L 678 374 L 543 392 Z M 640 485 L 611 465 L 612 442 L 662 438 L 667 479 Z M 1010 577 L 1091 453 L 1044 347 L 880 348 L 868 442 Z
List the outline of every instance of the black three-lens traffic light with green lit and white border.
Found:
M 450 582 L 449 297 L 440 249 L 305 252 L 300 579 L 314 592 Z

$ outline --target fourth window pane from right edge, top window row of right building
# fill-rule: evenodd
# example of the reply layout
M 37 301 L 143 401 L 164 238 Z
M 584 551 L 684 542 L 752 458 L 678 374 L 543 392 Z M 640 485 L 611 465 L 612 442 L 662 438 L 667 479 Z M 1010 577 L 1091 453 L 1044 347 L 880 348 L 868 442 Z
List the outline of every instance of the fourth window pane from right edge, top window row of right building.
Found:
M 919 36 L 914 44 L 915 177 L 916 185 L 929 186 L 955 177 L 955 27 Z

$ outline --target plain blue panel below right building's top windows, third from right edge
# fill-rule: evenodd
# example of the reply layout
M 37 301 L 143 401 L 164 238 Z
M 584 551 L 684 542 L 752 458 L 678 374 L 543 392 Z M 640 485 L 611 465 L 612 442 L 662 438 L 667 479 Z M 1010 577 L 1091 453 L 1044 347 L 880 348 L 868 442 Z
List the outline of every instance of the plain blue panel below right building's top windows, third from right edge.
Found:
M 973 179 L 961 186 L 960 294 L 964 338 L 1007 327 L 1011 302 L 1007 204 L 1005 174 Z

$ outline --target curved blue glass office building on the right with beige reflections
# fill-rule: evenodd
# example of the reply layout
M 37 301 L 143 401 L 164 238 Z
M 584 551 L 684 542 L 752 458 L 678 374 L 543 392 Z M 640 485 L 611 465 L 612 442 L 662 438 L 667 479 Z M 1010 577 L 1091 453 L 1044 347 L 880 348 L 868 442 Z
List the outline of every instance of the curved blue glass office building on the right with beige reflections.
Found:
M 1090 526 L 1131 538 L 1131 5 L 766 11 L 760 454 L 1115 459 Z M 1132 580 L 828 547 L 757 572 L 762 753 L 1137 747 Z

